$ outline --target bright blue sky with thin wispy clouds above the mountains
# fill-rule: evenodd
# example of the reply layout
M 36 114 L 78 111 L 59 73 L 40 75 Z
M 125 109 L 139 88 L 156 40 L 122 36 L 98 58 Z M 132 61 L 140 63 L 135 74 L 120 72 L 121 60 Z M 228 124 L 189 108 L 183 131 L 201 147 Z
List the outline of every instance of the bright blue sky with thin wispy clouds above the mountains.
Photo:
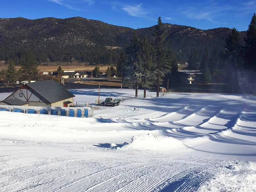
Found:
M 2 0 L 0 18 L 84 17 L 144 28 L 163 22 L 200 29 L 247 30 L 256 0 Z

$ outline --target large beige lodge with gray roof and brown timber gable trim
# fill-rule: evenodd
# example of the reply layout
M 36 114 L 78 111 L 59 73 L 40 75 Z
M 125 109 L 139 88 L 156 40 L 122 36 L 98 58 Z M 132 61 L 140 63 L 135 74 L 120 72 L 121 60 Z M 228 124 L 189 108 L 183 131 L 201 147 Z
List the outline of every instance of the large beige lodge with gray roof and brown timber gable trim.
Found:
M 75 96 L 54 80 L 38 81 L 22 85 L 0 105 L 39 107 L 70 107 Z

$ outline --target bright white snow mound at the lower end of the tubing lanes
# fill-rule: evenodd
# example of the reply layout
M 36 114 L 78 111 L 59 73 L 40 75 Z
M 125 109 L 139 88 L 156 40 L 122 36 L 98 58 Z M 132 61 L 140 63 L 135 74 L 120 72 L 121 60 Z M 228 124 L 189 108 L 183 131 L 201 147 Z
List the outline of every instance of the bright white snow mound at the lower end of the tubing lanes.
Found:
M 154 150 L 154 151 L 170 151 L 174 149 L 186 148 L 182 141 L 172 137 L 153 136 L 151 134 L 133 136 L 132 142 L 124 145 L 121 150 Z

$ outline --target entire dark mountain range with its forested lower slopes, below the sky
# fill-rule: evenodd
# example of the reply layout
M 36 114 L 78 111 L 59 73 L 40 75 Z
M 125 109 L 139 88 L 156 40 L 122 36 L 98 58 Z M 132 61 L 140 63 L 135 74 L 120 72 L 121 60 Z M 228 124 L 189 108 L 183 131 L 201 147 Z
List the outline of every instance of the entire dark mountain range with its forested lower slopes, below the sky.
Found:
M 201 55 L 205 47 L 223 50 L 229 28 L 200 30 L 164 24 L 168 45 L 179 62 L 188 62 L 193 50 Z M 38 62 L 79 60 L 91 64 L 116 64 L 120 52 L 130 43 L 134 29 L 81 17 L 68 19 L 0 19 L 0 60 L 12 58 L 16 65 L 26 50 Z M 154 26 L 136 29 L 139 37 L 153 39 Z M 243 42 L 244 33 L 241 33 Z

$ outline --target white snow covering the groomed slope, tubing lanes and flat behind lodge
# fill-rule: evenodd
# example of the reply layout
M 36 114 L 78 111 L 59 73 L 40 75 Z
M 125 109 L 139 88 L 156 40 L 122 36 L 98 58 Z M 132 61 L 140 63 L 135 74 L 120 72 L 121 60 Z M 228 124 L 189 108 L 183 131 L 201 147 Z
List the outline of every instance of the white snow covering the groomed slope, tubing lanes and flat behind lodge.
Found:
M 120 96 L 107 90 L 102 99 Z M 0 191 L 249 192 L 255 162 L 251 95 L 173 93 L 83 119 L 0 111 Z

